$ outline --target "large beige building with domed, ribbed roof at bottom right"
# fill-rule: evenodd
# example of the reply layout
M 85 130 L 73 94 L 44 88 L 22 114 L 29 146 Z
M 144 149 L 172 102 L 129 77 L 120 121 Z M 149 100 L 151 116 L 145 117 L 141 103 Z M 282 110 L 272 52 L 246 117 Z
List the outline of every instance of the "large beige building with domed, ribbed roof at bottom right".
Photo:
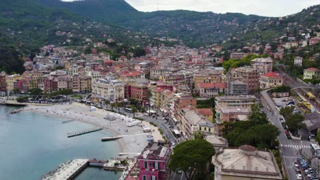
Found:
M 223 149 L 212 157 L 212 163 L 215 166 L 215 180 L 282 179 L 273 153 L 257 150 L 250 145 Z

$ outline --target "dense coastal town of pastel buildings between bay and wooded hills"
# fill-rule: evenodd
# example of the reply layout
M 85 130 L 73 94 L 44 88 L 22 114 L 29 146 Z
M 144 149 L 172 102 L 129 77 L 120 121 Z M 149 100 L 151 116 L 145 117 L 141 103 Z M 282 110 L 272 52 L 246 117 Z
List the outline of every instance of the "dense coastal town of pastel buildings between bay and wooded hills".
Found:
M 43 46 L 33 59 L 24 58 L 23 74 L 1 72 L 1 103 L 27 105 L 12 114 L 29 110 L 96 126 L 67 134 L 70 138 L 103 129 L 114 132 L 116 136 L 101 140 L 119 141 L 119 155 L 133 158 L 120 179 L 183 178 L 181 170 L 169 170 L 170 154 L 176 145 L 197 139 L 199 134 L 215 149 L 216 179 L 316 177 L 316 160 L 306 160 L 318 157 L 320 151 L 315 140 L 320 128 L 319 87 L 315 85 L 320 70 L 308 67 L 294 78 L 281 65 L 292 51 L 319 45 L 320 33 L 314 34 L 299 34 L 299 42 L 287 37 L 289 42 L 278 44 L 276 52 L 270 44 L 253 44 L 235 52 L 214 44 L 209 48 L 161 45 L 146 46 L 145 55 L 139 57 L 123 50 L 122 56 L 114 58 L 103 52 L 108 46 L 101 42 L 90 50 L 88 46 Z M 301 68 L 319 61 L 319 53 L 308 59 L 292 58 L 293 66 Z M 293 115 L 282 109 L 291 109 L 286 113 Z M 278 127 L 274 135 L 278 145 L 267 145 L 276 150 L 258 150 L 251 145 L 234 148 L 239 142 L 231 138 L 231 126 L 254 121 L 253 113 L 265 114 L 269 124 Z M 295 114 L 302 119 L 292 120 Z M 289 121 L 295 121 L 294 125 Z M 247 156 L 250 162 L 245 160 Z M 78 161 L 83 162 L 68 173 L 70 177 L 92 163 Z M 68 169 L 64 166 L 55 172 L 64 175 Z M 56 175 L 51 172 L 45 178 L 48 176 Z

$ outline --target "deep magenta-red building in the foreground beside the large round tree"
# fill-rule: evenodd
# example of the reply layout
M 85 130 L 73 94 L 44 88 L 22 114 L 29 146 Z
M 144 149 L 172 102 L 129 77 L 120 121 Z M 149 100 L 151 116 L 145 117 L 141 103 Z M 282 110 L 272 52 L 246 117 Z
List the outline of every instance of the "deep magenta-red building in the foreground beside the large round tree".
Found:
M 163 142 L 150 143 L 137 157 L 139 180 L 167 179 L 171 152 L 170 145 L 164 145 Z

